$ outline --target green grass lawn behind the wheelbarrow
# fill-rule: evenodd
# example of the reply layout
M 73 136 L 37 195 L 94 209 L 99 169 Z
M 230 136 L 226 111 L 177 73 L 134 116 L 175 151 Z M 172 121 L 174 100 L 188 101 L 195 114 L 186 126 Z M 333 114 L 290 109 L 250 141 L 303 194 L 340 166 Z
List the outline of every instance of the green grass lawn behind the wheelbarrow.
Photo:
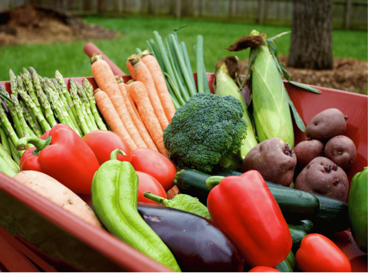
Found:
M 146 40 L 154 38 L 156 30 L 163 39 L 173 32 L 173 29 L 189 25 L 178 31 L 179 41 L 186 43 L 195 72 L 195 57 L 193 45 L 196 44 L 197 35 L 203 36 L 204 62 L 207 72 L 214 72 L 216 62 L 228 55 L 226 51 L 230 44 L 253 29 L 266 33 L 269 37 L 290 31 L 285 26 L 261 26 L 255 24 L 225 23 L 194 19 L 172 18 L 101 18 L 87 17 L 88 23 L 100 24 L 106 28 L 121 32 L 119 38 L 113 40 L 74 41 L 71 43 L 33 44 L 0 47 L 0 80 L 9 80 L 9 69 L 15 74 L 21 72 L 22 67 L 32 66 L 43 77 L 54 77 L 59 70 L 64 77 L 91 76 L 89 58 L 83 52 L 86 42 L 94 42 L 114 63 L 125 73 L 126 60 L 135 54 L 135 48 L 147 48 Z M 290 34 L 275 40 L 279 54 L 288 54 L 290 48 Z M 367 32 L 344 31 L 333 32 L 334 57 L 351 57 L 367 60 Z M 235 53 L 239 59 L 248 58 L 248 51 Z

